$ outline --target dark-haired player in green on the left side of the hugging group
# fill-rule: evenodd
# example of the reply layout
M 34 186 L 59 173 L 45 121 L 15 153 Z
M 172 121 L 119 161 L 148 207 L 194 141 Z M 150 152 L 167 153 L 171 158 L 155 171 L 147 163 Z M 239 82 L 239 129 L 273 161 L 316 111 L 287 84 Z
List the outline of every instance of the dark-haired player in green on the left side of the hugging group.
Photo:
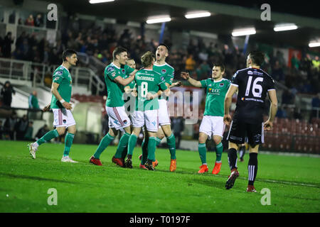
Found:
M 127 50 L 118 47 L 113 53 L 113 62 L 105 67 L 105 84 L 107 85 L 106 110 L 109 116 L 109 132 L 100 141 L 95 154 L 90 158 L 90 162 L 95 165 L 102 165 L 100 155 L 111 143 L 118 131 L 124 132 L 117 147 L 117 152 L 112 157 L 112 162 L 124 167 L 122 153 L 127 147 L 131 134 L 131 121 L 124 111 L 124 87 L 131 83 L 137 70 L 125 65 L 128 60 Z M 123 67 L 122 67 L 123 66 Z M 129 77 L 127 77 L 129 76 Z

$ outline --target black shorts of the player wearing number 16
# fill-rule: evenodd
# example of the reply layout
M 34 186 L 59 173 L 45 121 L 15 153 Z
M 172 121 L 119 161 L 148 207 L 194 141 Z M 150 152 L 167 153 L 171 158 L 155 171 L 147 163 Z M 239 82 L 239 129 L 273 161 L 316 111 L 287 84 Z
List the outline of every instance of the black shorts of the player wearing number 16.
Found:
M 242 144 L 247 142 L 255 147 L 257 144 L 265 143 L 262 123 L 245 123 L 234 118 L 231 122 L 227 140 L 232 143 Z

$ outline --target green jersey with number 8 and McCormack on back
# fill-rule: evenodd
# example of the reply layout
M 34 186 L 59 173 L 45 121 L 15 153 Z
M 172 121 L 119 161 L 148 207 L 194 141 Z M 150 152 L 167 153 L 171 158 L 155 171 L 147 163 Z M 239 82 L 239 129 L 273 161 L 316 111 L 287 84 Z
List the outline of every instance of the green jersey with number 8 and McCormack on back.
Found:
M 154 109 L 159 109 L 158 99 L 146 99 L 146 94 L 149 92 L 155 94 L 161 89 L 166 90 L 166 84 L 158 72 L 154 70 L 139 70 L 135 77 L 137 83 L 137 101 L 136 110 L 137 111 L 149 111 Z

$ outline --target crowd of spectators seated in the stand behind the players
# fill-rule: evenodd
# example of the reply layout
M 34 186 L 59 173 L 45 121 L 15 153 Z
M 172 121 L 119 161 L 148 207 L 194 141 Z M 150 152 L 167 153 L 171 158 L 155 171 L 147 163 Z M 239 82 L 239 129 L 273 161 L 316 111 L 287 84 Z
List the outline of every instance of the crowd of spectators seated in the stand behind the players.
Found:
M 37 26 L 33 16 L 29 16 L 26 24 Z M 39 19 L 40 21 L 40 19 Z M 124 29 L 122 33 L 116 33 L 114 26 L 110 25 L 102 29 L 96 26 L 81 28 L 81 26 L 71 26 L 66 29 L 55 45 L 50 45 L 45 38 L 38 39 L 34 33 L 23 31 L 16 38 L 16 49 L 11 52 L 11 43 L 15 38 L 8 33 L 1 40 L 2 57 L 13 57 L 17 60 L 28 60 L 42 62 L 50 65 L 60 65 L 61 55 L 65 48 L 72 48 L 78 52 L 95 56 L 105 65 L 112 61 L 112 51 L 118 45 L 127 48 L 129 57 L 134 58 L 139 67 L 139 57 L 147 50 L 155 51 L 158 44 L 155 40 L 145 40 L 143 35 L 132 35 L 129 29 Z M 242 50 L 233 45 L 222 45 L 220 43 L 210 43 L 206 45 L 201 38 L 191 39 L 185 48 L 175 48 L 169 36 L 166 36 L 164 43 L 171 46 L 171 53 L 168 58 L 170 65 L 174 65 L 176 79 L 181 79 L 180 72 L 187 70 L 195 79 L 205 79 L 210 75 L 214 62 L 223 62 L 226 66 L 226 77 L 231 79 L 236 70 L 245 67 L 246 56 Z M 266 55 L 266 63 L 263 69 L 270 73 L 272 77 L 290 89 L 295 95 L 297 92 L 304 94 L 316 94 L 319 91 L 319 56 L 314 59 L 302 53 L 299 60 L 297 56 L 292 57 L 291 65 L 287 66 L 282 52 L 275 55 Z M 103 76 L 103 74 L 102 74 Z

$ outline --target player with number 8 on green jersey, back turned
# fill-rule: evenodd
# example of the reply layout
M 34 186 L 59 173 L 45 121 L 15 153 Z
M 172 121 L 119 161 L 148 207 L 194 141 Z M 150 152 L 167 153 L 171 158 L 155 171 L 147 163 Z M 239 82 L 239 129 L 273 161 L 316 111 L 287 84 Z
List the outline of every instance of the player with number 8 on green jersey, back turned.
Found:
M 166 87 L 164 80 L 160 74 L 153 70 L 154 54 L 150 51 L 146 52 L 141 57 L 144 68 L 139 70 L 135 75 L 137 83 L 137 101 L 136 110 L 132 114 L 133 132 L 129 138 L 128 155 L 126 167 L 132 167 L 132 153 L 141 128 L 145 126 L 145 134 L 148 135 L 149 142 L 147 147 L 146 162 L 140 167 L 148 170 L 154 170 L 152 164 L 154 160 L 154 152 L 156 150 L 156 132 L 159 129 L 159 90 L 164 91 L 164 94 L 169 95 L 170 90 Z M 145 157 L 142 157 L 145 159 Z

